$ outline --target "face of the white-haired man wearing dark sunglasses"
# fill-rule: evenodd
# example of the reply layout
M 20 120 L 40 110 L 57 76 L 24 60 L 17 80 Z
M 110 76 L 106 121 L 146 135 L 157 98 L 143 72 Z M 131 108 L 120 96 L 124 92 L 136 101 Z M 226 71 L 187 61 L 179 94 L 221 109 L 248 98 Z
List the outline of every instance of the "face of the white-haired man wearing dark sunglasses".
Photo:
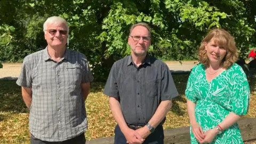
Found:
M 65 47 L 68 39 L 68 34 L 65 34 L 65 31 L 67 31 L 67 27 L 64 23 L 48 24 L 47 30 L 44 34 L 44 38 L 47 41 L 47 44 L 51 47 Z

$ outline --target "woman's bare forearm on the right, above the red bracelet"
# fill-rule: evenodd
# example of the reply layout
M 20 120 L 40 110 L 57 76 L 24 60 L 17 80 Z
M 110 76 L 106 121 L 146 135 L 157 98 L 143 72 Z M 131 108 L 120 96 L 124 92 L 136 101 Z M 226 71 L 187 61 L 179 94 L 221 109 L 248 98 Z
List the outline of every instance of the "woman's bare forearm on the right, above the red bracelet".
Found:
M 236 115 L 233 112 L 230 112 L 219 125 L 222 128 L 222 130 L 226 130 L 226 129 L 228 129 L 228 127 L 235 124 L 240 118 L 241 118 L 241 116 Z

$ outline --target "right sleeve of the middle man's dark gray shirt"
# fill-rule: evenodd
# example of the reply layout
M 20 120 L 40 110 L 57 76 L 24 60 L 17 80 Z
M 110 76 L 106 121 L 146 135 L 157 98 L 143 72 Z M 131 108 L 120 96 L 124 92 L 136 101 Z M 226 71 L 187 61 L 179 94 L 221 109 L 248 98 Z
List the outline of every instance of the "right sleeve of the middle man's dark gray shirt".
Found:
M 179 95 L 176 86 L 173 82 L 172 74 L 169 68 L 164 65 L 162 67 L 161 78 L 161 100 L 171 100 Z

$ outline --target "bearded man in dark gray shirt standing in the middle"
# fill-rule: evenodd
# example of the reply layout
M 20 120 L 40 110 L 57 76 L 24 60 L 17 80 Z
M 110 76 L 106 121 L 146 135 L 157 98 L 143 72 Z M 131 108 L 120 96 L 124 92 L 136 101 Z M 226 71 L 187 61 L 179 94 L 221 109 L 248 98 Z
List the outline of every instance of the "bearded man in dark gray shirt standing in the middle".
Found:
M 167 65 L 147 53 L 147 23 L 130 28 L 128 44 L 131 55 L 114 63 L 103 92 L 117 122 L 115 143 L 163 143 L 162 125 L 179 94 Z

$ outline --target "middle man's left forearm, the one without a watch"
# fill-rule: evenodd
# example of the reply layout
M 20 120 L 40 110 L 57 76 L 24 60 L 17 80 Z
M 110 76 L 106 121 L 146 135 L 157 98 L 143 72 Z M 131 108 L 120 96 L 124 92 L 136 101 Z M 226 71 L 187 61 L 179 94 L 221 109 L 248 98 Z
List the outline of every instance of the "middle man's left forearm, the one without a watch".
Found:
M 119 101 L 116 98 L 109 97 L 109 105 L 110 105 L 111 112 L 117 124 L 119 125 L 121 131 L 124 132 L 126 129 L 129 129 L 129 127 L 127 126 L 124 120 L 124 116 L 123 116 Z

